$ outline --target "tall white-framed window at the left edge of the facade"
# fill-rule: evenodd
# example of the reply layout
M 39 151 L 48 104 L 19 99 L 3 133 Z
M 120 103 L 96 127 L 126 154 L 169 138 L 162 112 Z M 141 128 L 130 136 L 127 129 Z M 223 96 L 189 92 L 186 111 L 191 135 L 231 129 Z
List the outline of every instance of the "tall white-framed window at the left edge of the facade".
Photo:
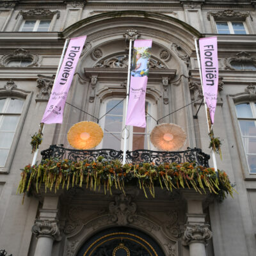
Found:
M 13 136 L 19 122 L 24 100 L 15 98 L 0 99 L 0 166 L 6 163 Z

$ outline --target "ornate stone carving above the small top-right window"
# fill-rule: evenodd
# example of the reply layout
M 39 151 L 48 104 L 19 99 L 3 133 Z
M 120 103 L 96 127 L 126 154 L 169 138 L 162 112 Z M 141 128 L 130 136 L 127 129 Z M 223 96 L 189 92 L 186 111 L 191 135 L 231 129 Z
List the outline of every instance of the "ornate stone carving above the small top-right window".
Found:
M 245 20 L 246 17 L 250 17 L 253 20 L 250 12 L 236 12 L 234 10 L 224 10 L 220 12 L 208 12 L 207 19 L 210 20 L 210 16 L 214 17 L 215 20 L 230 20 L 230 19 L 240 19 Z

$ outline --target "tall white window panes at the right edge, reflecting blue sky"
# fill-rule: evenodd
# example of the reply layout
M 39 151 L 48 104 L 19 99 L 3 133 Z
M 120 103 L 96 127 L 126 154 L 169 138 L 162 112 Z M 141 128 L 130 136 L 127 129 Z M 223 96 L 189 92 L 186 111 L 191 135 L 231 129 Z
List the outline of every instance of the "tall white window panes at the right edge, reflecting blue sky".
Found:
M 244 151 L 250 173 L 256 173 L 256 102 L 236 105 Z

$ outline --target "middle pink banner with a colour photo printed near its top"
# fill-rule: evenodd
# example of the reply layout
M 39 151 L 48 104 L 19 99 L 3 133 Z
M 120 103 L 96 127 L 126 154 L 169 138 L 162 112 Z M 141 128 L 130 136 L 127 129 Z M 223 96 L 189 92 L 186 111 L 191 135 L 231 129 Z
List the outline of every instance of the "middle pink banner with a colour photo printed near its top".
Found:
M 152 40 L 135 40 L 125 125 L 146 127 L 145 99 Z

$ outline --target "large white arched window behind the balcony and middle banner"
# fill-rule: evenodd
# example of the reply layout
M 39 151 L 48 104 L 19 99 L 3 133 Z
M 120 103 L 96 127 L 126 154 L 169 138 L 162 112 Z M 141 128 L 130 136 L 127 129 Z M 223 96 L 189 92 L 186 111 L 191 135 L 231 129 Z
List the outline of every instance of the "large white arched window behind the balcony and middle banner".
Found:
M 98 148 L 111 148 L 115 150 L 123 150 L 124 147 L 124 127 L 125 127 L 125 100 L 112 98 L 102 102 L 100 109 L 100 126 L 103 129 L 104 137 Z M 120 102 L 120 104 L 118 104 Z M 118 104 L 116 106 L 116 104 Z M 116 106 L 116 107 L 115 107 Z M 115 108 L 113 108 L 115 107 Z M 150 143 L 150 132 L 156 125 L 156 104 L 150 100 L 145 104 L 147 126 L 145 128 L 129 126 L 127 138 L 127 150 L 152 149 L 155 150 Z M 149 115 L 148 115 L 148 114 Z M 154 118 L 152 118 L 153 116 Z

